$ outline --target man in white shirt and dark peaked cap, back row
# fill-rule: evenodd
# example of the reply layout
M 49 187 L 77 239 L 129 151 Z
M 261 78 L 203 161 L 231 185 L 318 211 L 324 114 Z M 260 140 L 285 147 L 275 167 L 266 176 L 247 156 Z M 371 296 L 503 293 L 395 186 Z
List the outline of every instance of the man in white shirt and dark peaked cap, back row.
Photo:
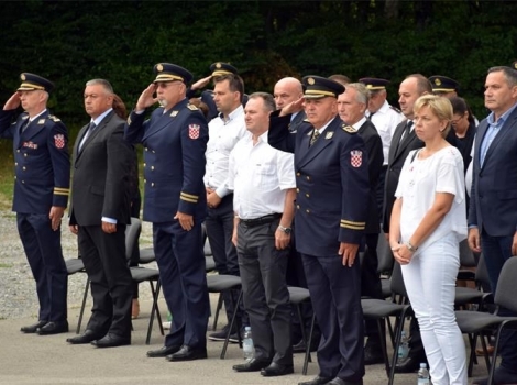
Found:
M 375 125 L 381 139 L 383 141 L 383 169 L 378 178 L 376 189 L 376 199 L 380 210 L 380 220 L 382 220 L 382 210 L 384 205 L 384 180 L 386 178 L 386 170 L 388 164 L 389 146 L 392 145 L 393 133 L 395 128 L 404 120 L 404 114 L 395 107 L 391 106 L 387 98 L 386 86 L 389 80 L 380 78 L 362 78 L 359 81 L 363 82 L 370 90 L 369 107 L 366 117 Z

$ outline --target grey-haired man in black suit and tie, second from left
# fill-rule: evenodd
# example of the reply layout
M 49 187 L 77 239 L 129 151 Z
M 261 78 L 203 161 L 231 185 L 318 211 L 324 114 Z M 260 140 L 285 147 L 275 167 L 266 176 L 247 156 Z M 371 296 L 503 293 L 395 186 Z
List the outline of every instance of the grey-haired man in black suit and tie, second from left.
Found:
M 84 334 L 72 344 L 112 348 L 131 343 L 133 287 L 125 253 L 130 223 L 132 148 L 125 122 L 112 109 L 113 89 L 105 79 L 86 84 L 85 109 L 91 117 L 74 146 L 70 231 L 91 282 L 94 307 Z

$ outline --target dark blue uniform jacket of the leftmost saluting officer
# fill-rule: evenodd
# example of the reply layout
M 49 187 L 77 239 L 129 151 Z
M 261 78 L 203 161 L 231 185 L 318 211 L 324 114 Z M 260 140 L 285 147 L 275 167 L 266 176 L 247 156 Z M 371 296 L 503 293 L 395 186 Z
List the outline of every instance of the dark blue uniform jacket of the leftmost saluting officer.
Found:
M 47 215 L 52 206 L 66 207 L 70 156 L 65 124 L 46 110 L 22 132 L 29 114 L 23 112 L 13 121 L 15 113 L 16 110 L 0 110 L 0 138 L 11 139 L 14 150 L 12 210 Z

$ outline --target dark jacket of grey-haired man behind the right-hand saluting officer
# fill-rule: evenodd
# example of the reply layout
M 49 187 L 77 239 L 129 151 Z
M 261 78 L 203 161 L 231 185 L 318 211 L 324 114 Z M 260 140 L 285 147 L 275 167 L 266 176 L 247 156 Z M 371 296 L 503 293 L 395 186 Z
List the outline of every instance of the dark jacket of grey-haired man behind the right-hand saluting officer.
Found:
M 370 177 L 370 202 L 369 217 L 366 219 L 366 234 L 378 234 L 378 206 L 377 206 L 377 184 L 384 163 L 383 141 L 378 135 L 375 125 L 366 120 L 358 130 L 358 134 L 363 139 L 369 154 L 369 177 Z

